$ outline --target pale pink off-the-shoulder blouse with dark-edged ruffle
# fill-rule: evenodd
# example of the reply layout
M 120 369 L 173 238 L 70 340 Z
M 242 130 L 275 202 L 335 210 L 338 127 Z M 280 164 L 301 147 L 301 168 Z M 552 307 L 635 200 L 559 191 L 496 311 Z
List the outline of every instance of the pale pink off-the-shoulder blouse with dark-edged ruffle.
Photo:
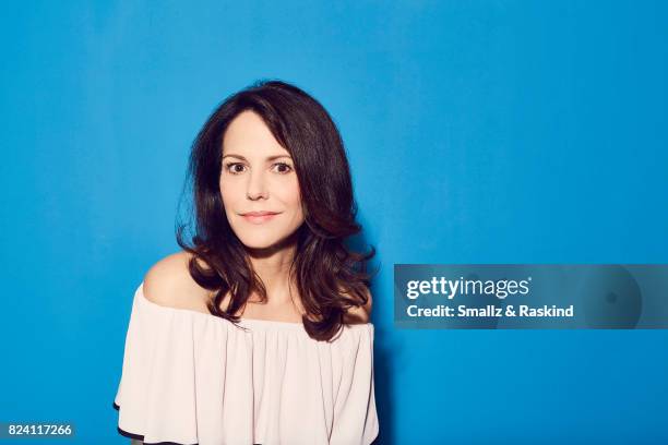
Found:
M 134 293 L 114 407 L 145 444 L 355 445 L 378 435 L 373 325 L 332 342 L 301 323 L 159 305 Z

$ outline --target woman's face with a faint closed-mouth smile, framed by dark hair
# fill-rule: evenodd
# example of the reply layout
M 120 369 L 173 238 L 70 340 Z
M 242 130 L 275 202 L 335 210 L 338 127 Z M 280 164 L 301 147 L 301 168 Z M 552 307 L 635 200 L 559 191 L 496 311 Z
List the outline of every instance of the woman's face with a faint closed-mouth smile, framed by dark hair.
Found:
M 240 112 L 223 137 L 220 194 L 229 225 L 248 248 L 271 248 L 303 222 L 293 158 L 253 111 Z

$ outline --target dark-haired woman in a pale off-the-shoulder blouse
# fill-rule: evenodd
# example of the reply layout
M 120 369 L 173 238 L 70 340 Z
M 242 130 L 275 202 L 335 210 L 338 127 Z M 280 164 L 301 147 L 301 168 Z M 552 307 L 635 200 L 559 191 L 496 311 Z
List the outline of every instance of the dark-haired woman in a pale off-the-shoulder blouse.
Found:
M 369 444 L 371 294 L 336 125 L 303 91 L 227 98 L 190 157 L 194 231 L 134 293 L 119 432 L 177 444 Z

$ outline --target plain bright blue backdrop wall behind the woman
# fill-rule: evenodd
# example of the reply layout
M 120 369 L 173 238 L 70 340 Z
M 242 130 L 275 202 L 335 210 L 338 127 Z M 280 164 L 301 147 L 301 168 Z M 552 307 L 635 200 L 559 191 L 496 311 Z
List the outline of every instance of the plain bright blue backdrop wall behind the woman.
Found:
M 668 262 L 668 3 L 327 3 L 3 4 L 0 421 L 127 443 L 190 144 L 276 77 L 339 125 L 379 250 L 379 443 L 667 443 L 666 330 L 397 330 L 392 266 Z

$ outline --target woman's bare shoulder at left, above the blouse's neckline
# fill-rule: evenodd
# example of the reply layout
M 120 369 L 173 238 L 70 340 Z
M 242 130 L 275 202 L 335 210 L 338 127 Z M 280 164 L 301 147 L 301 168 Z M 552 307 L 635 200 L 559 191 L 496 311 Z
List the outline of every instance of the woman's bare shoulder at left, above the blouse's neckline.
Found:
M 205 310 L 207 291 L 194 281 L 188 270 L 191 257 L 191 253 L 179 251 L 151 266 L 144 275 L 144 297 L 159 305 Z

